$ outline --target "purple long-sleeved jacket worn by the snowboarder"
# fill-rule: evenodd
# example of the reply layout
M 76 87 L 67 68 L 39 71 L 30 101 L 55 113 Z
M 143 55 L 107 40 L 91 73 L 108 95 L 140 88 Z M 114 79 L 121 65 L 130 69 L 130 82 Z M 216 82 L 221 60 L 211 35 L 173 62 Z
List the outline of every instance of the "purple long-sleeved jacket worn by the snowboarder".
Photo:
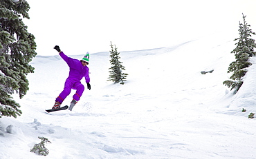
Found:
M 69 67 L 69 79 L 72 79 L 74 81 L 81 81 L 81 79 L 84 77 L 86 83 L 90 82 L 89 77 L 89 68 L 87 66 L 83 66 L 82 63 L 77 59 L 72 59 L 71 57 L 66 56 L 63 52 L 60 52 L 60 56 Z

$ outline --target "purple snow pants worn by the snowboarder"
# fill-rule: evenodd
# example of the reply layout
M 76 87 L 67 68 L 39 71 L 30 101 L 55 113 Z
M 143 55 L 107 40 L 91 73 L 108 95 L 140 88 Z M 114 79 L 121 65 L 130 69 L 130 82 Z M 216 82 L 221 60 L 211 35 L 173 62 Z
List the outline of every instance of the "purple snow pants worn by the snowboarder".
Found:
M 71 93 L 71 89 L 76 89 L 75 94 L 73 95 L 73 99 L 80 100 L 82 93 L 84 92 L 84 85 L 80 81 L 74 81 L 72 79 L 67 78 L 64 86 L 64 90 L 60 93 L 60 95 L 56 98 L 55 101 L 62 103 L 66 96 Z

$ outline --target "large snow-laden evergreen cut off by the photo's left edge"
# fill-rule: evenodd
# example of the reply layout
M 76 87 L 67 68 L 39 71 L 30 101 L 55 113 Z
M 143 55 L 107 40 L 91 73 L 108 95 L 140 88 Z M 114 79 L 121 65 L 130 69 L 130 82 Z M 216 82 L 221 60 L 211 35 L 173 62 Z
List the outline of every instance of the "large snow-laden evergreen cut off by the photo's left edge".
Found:
M 29 9 L 25 0 L 0 1 L 0 118 L 21 115 L 11 94 L 22 98 L 28 91 L 26 75 L 34 71 L 28 63 L 36 56 L 35 36 L 22 21 L 29 19 Z

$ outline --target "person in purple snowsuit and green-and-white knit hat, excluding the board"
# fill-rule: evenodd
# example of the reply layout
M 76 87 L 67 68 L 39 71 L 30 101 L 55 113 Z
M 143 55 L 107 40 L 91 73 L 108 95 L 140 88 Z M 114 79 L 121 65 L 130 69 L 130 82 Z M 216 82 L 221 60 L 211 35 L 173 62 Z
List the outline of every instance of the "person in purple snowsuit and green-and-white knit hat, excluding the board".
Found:
M 52 109 L 60 108 L 60 105 L 65 100 L 66 96 L 68 96 L 71 93 L 71 89 L 76 89 L 75 94 L 73 95 L 73 100 L 71 101 L 71 105 L 68 108 L 69 110 L 72 110 L 75 104 L 80 100 L 82 93 L 84 92 L 84 85 L 81 83 L 81 79 L 84 77 L 87 88 L 91 90 L 90 85 L 90 77 L 89 77 L 89 68 L 87 65 L 89 65 L 89 52 L 84 55 L 82 60 L 72 59 L 71 57 L 66 56 L 61 50 L 58 45 L 54 47 L 57 52 L 59 52 L 60 56 L 69 67 L 69 76 L 66 78 L 66 82 L 64 85 L 64 90 L 60 93 L 59 96 L 57 96 L 55 100 L 55 104 Z

